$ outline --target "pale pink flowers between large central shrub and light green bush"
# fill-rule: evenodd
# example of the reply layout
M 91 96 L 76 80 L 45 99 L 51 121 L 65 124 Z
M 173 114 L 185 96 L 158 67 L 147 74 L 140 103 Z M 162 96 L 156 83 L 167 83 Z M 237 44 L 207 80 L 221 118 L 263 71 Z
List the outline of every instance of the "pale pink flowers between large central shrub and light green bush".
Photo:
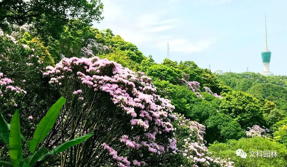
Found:
M 212 153 L 208 151 L 204 144 L 203 135 L 205 134 L 205 126 L 185 119 L 181 114 L 175 114 L 178 118 L 177 126 L 180 129 L 188 129 L 189 137 L 183 139 L 184 145 L 181 154 L 185 156 L 193 166 L 227 166 L 232 167 L 234 162 L 228 162 L 224 159 L 212 157 Z

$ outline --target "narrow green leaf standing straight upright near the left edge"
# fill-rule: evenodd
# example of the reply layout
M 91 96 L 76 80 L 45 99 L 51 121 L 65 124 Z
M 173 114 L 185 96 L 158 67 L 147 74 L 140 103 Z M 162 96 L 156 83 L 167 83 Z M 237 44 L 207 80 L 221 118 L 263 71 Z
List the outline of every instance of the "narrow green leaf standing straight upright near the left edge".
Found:
M 19 111 L 16 110 L 10 123 L 9 155 L 13 166 L 23 161 Z

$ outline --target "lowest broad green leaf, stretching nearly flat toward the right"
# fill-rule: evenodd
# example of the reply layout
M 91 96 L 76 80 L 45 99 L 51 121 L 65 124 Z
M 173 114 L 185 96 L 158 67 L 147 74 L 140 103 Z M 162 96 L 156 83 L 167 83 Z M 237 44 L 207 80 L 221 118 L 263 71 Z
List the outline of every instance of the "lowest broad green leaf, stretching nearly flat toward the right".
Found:
M 94 135 L 94 132 L 88 133 L 86 135 L 82 135 L 80 137 L 77 137 L 77 138 L 75 138 L 73 140 L 67 141 L 67 142 L 65 142 L 65 143 L 53 148 L 47 154 L 45 154 L 42 157 L 40 157 L 37 161 L 42 161 L 47 155 L 52 155 L 52 154 L 57 154 L 57 153 L 63 152 L 66 149 L 72 147 L 73 145 L 77 145 L 79 143 L 82 143 L 86 139 L 90 138 L 92 135 Z

